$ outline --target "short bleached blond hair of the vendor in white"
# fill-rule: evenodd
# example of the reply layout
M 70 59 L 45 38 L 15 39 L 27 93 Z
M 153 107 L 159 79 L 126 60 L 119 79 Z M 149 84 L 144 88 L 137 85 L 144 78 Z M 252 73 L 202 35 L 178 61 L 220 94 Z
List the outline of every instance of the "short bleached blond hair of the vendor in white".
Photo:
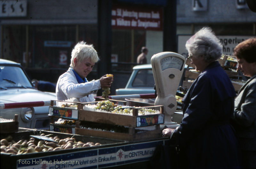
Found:
M 86 42 L 80 41 L 76 44 L 75 48 L 71 52 L 71 63 L 70 67 L 74 67 L 74 59 L 77 58 L 78 62 L 81 63 L 85 59 L 91 58 L 93 63 L 98 62 L 100 59 L 93 45 L 87 45 Z

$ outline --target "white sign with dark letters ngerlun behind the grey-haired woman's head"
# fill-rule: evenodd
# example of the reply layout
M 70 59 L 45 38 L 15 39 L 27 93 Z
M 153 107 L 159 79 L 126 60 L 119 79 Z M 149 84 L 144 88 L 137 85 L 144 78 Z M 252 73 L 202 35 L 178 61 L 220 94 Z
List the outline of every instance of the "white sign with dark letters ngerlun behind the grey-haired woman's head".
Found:
M 178 54 L 183 55 L 187 58 L 188 51 L 185 47 L 187 40 L 191 35 L 178 35 Z M 224 55 L 233 55 L 234 48 L 239 43 L 243 42 L 249 38 L 256 38 L 255 35 L 252 36 L 217 36 L 220 39 L 221 44 L 223 45 L 223 54 Z

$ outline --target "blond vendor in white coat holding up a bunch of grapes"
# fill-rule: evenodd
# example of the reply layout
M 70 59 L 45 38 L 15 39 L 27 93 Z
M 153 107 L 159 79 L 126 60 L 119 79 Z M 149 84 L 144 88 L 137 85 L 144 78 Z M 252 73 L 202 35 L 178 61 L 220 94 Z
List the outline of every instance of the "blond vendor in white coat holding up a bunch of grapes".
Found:
M 56 86 L 56 99 L 65 101 L 76 98 L 78 102 L 95 101 L 93 94 L 102 87 L 110 87 L 113 77 L 106 75 L 98 80 L 87 81 L 86 76 L 99 61 L 93 45 L 78 42 L 71 53 L 71 64 L 67 72 L 59 77 Z

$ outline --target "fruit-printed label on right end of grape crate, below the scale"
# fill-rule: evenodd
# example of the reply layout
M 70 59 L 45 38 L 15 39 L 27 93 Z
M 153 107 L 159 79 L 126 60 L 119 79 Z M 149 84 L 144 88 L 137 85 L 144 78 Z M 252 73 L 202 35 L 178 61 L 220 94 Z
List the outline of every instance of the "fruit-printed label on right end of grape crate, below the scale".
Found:
M 152 114 L 137 116 L 136 126 L 150 126 L 164 123 L 164 114 Z

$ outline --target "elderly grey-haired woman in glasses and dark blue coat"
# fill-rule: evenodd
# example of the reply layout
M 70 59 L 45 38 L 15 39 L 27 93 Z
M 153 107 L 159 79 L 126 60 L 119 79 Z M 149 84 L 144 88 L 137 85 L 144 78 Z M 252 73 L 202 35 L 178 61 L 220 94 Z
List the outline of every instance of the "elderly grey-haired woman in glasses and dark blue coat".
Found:
M 216 61 L 222 55 L 220 41 L 210 28 L 203 28 L 186 48 L 188 59 L 201 73 L 182 99 L 180 126 L 164 129 L 163 135 L 178 138 L 184 168 L 240 168 L 240 145 L 229 124 L 236 92 Z

